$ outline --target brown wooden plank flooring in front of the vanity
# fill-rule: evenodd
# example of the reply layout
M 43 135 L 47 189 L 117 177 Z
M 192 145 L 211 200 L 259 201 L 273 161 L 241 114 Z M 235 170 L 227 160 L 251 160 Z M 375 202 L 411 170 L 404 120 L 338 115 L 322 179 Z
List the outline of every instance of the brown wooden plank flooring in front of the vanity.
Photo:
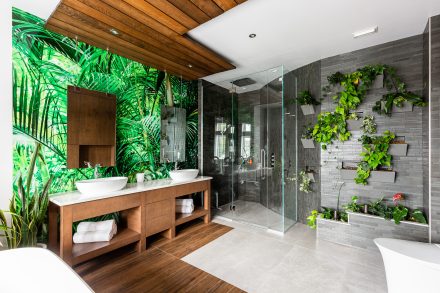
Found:
M 100 292 L 244 292 L 180 258 L 217 239 L 232 228 L 195 221 L 179 228 L 176 238 L 149 239 L 149 249 L 125 247 L 75 267 Z

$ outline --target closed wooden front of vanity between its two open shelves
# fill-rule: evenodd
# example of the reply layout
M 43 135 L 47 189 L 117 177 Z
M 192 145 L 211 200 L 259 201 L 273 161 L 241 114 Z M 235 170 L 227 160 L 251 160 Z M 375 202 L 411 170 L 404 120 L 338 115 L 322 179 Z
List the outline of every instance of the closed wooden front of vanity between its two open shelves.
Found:
M 145 206 L 145 233 L 150 236 L 164 230 L 168 230 L 173 225 L 174 200 L 167 199 Z

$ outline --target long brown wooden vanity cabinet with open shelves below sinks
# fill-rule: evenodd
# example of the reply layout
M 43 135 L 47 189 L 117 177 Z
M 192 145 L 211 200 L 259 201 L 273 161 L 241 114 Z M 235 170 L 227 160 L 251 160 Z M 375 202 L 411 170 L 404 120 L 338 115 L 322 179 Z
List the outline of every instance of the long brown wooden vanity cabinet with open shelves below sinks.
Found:
M 211 179 L 208 177 L 190 183 L 145 191 L 133 188 L 133 193 L 92 201 L 72 200 L 64 203 L 62 200 L 50 199 L 49 248 L 70 265 L 76 265 L 134 243 L 137 251 L 142 252 L 147 247 L 147 237 L 151 235 L 162 233 L 167 238 L 174 238 L 178 225 L 197 218 L 203 218 L 205 223 L 211 221 Z M 196 207 L 191 214 L 176 213 L 176 198 L 196 192 L 203 194 L 203 207 Z M 121 223 L 118 225 L 118 233 L 112 240 L 73 243 L 74 222 L 113 212 L 120 212 Z

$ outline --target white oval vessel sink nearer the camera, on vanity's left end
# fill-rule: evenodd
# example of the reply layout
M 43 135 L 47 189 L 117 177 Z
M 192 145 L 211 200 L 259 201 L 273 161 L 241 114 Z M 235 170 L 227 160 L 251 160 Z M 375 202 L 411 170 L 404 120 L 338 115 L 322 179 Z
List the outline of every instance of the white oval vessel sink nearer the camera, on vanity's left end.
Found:
M 128 177 L 108 177 L 81 180 L 75 182 L 76 188 L 83 194 L 105 194 L 118 191 L 127 185 Z

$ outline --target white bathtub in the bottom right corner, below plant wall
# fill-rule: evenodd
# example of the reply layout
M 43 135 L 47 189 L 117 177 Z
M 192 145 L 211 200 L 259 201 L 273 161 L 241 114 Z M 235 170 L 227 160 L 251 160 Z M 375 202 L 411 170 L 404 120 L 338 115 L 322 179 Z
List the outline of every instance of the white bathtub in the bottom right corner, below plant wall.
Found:
M 436 244 L 377 238 L 388 293 L 440 292 L 440 247 Z

